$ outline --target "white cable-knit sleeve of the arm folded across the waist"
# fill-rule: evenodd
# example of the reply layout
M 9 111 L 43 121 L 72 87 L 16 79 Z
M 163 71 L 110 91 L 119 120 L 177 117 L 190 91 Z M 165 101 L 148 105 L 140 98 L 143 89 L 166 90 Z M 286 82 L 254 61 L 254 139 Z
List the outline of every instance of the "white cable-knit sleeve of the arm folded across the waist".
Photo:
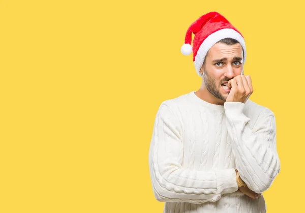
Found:
M 182 167 L 184 140 L 175 111 L 164 102 L 155 119 L 149 172 L 158 201 L 200 204 L 237 191 L 235 169 L 199 171 Z

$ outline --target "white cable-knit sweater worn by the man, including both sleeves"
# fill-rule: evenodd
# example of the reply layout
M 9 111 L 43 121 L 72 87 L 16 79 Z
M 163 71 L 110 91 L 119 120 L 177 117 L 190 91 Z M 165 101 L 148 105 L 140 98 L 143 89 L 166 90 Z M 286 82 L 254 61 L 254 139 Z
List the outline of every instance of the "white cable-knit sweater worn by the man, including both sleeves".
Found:
M 266 191 L 280 171 L 273 112 L 249 100 L 216 105 L 192 91 L 164 101 L 149 147 L 154 195 L 164 212 L 266 212 Z

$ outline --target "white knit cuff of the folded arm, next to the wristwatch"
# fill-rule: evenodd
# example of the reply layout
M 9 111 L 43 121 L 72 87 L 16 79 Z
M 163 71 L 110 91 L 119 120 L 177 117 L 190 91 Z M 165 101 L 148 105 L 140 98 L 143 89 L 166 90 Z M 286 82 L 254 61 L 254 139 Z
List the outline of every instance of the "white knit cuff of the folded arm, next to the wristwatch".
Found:
M 228 194 L 238 190 L 235 169 L 216 171 L 216 177 L 220 181 L 219 186 L 222 188 L 222 194 Z

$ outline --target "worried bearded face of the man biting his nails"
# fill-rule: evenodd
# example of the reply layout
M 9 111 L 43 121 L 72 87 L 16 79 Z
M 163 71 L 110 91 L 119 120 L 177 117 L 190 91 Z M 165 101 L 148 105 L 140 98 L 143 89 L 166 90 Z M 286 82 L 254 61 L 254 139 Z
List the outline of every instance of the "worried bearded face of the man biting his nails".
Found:
M 210 48 L 200 70 L 208 92 L 226 101 L 230 89 L 222 85 L 237 75 L 243 75 L 242 47 L 239 43 L 226 45 L 216 43 Z

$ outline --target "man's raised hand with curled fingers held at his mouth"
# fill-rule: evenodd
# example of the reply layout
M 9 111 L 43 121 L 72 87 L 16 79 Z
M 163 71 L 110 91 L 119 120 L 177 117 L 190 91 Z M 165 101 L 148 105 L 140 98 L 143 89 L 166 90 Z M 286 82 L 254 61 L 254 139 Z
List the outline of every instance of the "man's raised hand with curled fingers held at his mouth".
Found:
M 237 75 L 228 81 L 228 87 L 231 88 L 226 102 L 246 103 L 253 93 L 252 81 L 250 75 Z

